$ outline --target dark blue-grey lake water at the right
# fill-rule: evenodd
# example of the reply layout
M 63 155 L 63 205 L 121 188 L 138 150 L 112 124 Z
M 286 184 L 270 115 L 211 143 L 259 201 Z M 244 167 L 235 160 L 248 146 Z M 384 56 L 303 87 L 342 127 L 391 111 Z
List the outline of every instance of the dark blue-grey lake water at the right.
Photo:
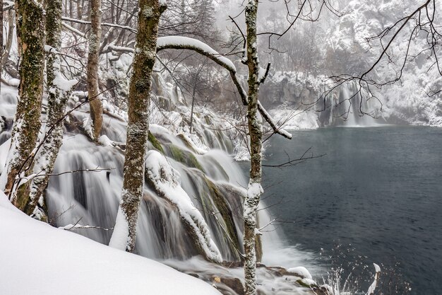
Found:
M 266 203 L 280 203 L 270 211 L 284 221 L 289 243 L 331 257 L 321 260 L 325 267 L 332 260 L 347 271 L 359 262 L 382 263 L 383 278 L 399 287 L 410 282 L 410 294 L 442 294 L 442 128 L 292 133 L 291 141 L 270 139 L 263 164 L 297 158 L 310 147 L 326 156 L 263 169 Z

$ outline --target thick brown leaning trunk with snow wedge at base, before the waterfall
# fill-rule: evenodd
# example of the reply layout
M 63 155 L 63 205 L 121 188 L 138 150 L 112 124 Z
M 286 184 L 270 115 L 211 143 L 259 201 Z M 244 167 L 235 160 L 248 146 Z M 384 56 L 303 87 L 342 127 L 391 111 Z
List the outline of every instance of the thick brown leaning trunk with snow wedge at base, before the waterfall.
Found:
M 129 86 L 129 122 L 126 157 L 124 159 L 123 190 L 117 223 L 109 245 L 133 252 L 136 240 L 138 208 L 143 197 L 145 156 L 149 129 L 150 86 L 155 64 L 158 22 L 165 1 L 138 2 L 138 33 L 133 57 L 133 73 Z

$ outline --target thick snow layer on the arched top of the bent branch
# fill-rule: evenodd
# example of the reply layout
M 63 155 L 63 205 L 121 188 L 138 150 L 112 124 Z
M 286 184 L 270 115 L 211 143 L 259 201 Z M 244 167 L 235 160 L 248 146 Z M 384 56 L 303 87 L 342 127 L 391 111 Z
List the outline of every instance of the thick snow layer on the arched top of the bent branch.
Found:
M 227 57 L 222 57 L 220 53 L 218 53 L 216 50 L 214 50 L 212 47 L 205 44 L 204 42 L 201 42 L 200 40 L 181 36 L 167 36 L 158 38 L 157 47 L 167 47 L 168 45 L 197 48 L 198 50 L 201 50 L 206 54 L 214 57 L 222 64 L 225 64 L 229 69 L 237 71 L 237 68 L 234 66 L 233 62 L 230 61 L 230 59 L 228 59 Z

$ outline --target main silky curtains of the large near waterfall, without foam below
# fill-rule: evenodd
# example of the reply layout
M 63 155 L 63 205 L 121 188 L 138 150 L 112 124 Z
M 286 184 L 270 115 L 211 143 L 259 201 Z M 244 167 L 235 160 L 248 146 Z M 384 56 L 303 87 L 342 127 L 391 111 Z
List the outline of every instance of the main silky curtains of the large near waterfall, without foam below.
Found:
M 153 135 L 165 141 L 162 143 L 165 155 L 179 171 L 181 187 L 203 212 L 223 259 L 239 260 L 230 241 L 232 238 L 241 245 L 241 218 L 237 209 L 241 207 L 241 186 L 246 185 L 246 180 L 239 167 L 225 151 L 214 150 L 200 155 L 164 130 Z M 47 188 L 51 223 L 65 226 L 78 222 L 112 229 L 119 204 L 123 163 L 123 154 L 112 146 L 97 146 L 80 134 L 65 137 L 54 170 L 54 174 L 65 174 L 53 176 Z M 75 172 L 95 168 L 112 170 Z M 66 173 L 68 171 L 73 172 Z M 222 210 L 227 210 L 225 216 L 215 218 L 213 213 Z M 231 224 L 225 221 L 230 215 Z M 236 236 L 227 237 L 225 231 L 232 231 Z M 102 229 L 80 229 L 78 232 L 105 244 L 109 243 L 112 234 Z M 147 186 L 138 221 L 136 252 L 155 259 L 184 259 L 197 254 L 177 210 Z

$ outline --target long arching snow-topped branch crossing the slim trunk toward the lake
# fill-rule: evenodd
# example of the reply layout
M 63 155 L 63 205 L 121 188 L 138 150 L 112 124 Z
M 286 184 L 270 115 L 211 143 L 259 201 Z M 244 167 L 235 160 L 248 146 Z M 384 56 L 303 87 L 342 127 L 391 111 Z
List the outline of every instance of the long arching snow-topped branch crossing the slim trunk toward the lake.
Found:
M 209 45 L 201 42 L 200 40 L 196 40 L 189 37 L 181 37 L 181 36 L 168 36 L 168 37 L 159 37 L 157 40 L 157 52 L 165 49 L 181 49 L 181 50 L 193 50 L 198 52 L 199 54 L 212 59 L 214 62 L 223 66 L 230 72 L 230 76 L 232 77 L 232 81 L 238 89 L 239 96 L 241 96 L 242 103 L 247 105 L 249 98 L 247 97 L 247 93 L 244 88 L 241 86 L 241 82 L 237 77 L 237 68 L 234 66 L 233 62 L 227 57 L 223 57 L 222 54 L 218 53 Z M 265 80 L 265 77 L 268 74 L 269 66 L 266 69 L 262 69 L 260 79 L 261 81 Z M 272 127 L 273 132 L 282 135 L 282 137 L 286 137 L 287 139 L 292 139 L 292 134 L 289 134 L 285 129 L 277 127 L 277 124 L 270 116 L 270 114 L 263 108 L 263 105 L 258 102 L 258 110 L 268 122 L 268 125 Z

